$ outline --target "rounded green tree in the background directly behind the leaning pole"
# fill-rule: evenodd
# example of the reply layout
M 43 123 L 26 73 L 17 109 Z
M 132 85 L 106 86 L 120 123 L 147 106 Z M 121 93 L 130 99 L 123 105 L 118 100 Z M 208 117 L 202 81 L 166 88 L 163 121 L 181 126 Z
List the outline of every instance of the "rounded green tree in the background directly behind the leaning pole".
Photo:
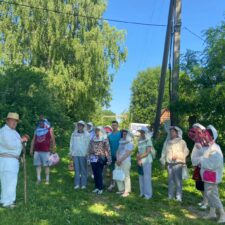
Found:
M 168 76 L 167 76 L 168 77 Z M 130 112 L 133 122 L 153 124 L 156 113 L 160 68 L 149 68 L 139 72 L 133 81 Z M 168 78 L 167 78 L 168 81 Z M 168 107 L 168 82 L 163 108 Z

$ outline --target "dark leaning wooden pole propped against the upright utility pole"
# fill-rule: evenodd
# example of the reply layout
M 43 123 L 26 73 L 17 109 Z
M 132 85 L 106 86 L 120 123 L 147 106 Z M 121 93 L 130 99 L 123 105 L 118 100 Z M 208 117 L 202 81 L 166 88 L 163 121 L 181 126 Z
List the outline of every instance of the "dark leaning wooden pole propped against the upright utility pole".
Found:
M 154 135 L 153 135 L 154 138 L 157 136 L 159 125 L 160 125 L 160 116 L 161 116 L 161 110 L 162 110 L 162 101 L 163 101 L 163 95 L 164 95 L 168 55 L 169 55 L 171 32 L 172 32 L 172 25 L 173 25 L 173 12 L 174 12 L 174 0 L 170 0 L 166 37 L 165 37 L 165 44 L 164 44 L 163 61 L 162 61 L 162 68 L 161 68 L 161 77 L 160 77 L 159 90 L 158 90 L 157 110 L 156 110 L 156 117 L 155 117 L 155 123 L 154 123 Z

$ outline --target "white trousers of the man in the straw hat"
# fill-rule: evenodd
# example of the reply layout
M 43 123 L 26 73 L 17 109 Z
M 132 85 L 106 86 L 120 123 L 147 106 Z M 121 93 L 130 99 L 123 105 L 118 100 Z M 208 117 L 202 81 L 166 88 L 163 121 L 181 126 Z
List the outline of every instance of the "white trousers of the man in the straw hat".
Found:
M 17 159 L 0 157 L 0 203 L 3 204 L 3 206 L 11 205 L 16 200 L 18 172 L 19 161 Z

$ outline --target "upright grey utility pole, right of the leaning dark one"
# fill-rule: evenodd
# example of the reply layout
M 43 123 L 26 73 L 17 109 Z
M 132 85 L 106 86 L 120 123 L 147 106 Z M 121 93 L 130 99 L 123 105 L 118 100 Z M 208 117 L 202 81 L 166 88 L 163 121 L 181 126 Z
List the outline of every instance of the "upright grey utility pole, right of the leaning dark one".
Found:
M 178 101 L 179 71 L 180 71 L 180 33 L 181 33 L 181 0 L 175 0 L 174 4 L 174 39 L 173 39 L 173 69 L 172 69 L 172 92 L 171 92 L 171 125 L 178 124 L 176 103 Z

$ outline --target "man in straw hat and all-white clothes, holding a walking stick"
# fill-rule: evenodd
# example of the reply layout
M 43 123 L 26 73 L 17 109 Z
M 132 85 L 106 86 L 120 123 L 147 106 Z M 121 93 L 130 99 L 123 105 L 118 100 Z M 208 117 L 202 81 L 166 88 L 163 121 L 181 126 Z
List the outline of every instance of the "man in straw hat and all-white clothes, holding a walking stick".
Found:
M 22 143 L 28 141 L 28 136 L 22 138 L 16 131 L 19 115 L 8 113 L 6 124 L 0 129 L 0 182 L 3 207 L 13 208 L 16 200 L 16 186 L 19 172 L 19 156 Z

